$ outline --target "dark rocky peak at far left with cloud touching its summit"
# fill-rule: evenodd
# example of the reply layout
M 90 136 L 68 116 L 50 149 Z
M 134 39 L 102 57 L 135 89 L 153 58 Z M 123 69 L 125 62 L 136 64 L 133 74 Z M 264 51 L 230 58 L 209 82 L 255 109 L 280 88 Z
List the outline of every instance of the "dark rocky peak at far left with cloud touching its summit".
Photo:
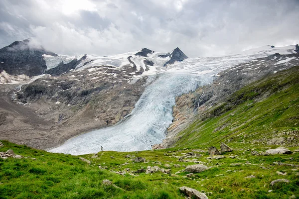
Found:
M 46 62 L 42 55 L 57 56 L 41 46 L 32 45 L 31 40 L 15 41 L 0 49 L 0 72 L 9 75 L 25 74 L 29 77 L 41 75 L 46 69 Z

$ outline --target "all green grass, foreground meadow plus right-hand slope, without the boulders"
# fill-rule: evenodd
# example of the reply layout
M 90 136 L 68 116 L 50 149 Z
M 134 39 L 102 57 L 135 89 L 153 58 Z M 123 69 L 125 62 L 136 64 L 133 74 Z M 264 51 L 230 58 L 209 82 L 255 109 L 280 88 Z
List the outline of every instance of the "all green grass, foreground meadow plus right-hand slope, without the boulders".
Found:
M 16 154 L 36 160 L 0 159 L 0 199 L 183 199 L 184 196 L 178 192 L 180 186 L 212 192 L 207 194 L 209 199 L 288 199 L 293 194 L 299 197 L 299 170 L 273 164 L 278 161 L 299 164 L 299 153 L 272 156 L 252 156 L 250 151 L 243 153 L 245 149 L 253 147 L 256 151 L 267 150 L 263 141 L 255 145 L 249 142 L 272 136 L 274 130 L 281 132 L 298 128 L 295 124 L 298 121 L 298 70 L 299 67 L 278 73 L 237 92 L 224 105 L 207 113 L 206 120 L 196 121 L 182 132 L 184 136 L 173 149 L 128 153 L 104 151 L 98 153 L 97 158 L 92 158 L 92 155 L 79 156 L 91 160 L 92 164 L 88 165 L 78 156 L 52 154 L 4 141 L 5 146 L 0 151 L 13 149 Z M 261 97 L 264 93 L 271 96 L 264 99 Z M 257 115 L 255 119 L 250 119 L 254 115 Z M 244 138 L 244 134 L 248 136 Z M 220 160 L 209 160 L 207 153 L 200 153 L 202 156 L 196 159 L 210 169 L 192 178 L 186 178 L 186 172 L 171 177 L 161 172 L 121 176 L 110 171 L 127 168 L 136 171 L 154 165 L 165 168 L 163 165 L 167 163 L 171 166 L 171 174 L 174 174 L 194 164 L 179 162 L 176 156 L 195 148 L 206 150 L 211 145 L 219 147 L 221 141 L 228 139 L 234 151 L 225 154 L 226 158 Z M 126 155 L 145 157 L 149 162 L 133 163 Z M 124 164 L 126 162 L 129 164 Z M 231 165 L 233 163 L 241 164 Z M 174 164 L 180 166 L 174 167 Z M 107 166 L 107 170 L 99 169 L 99 165 Z M 277 171 L 288 174 L 281 176 Z M 245 178 L 250 175 L 256 178 Z M 289 179 L 290 184 L 270 186 L 271 181 L 281 178 Z M 123 190 L 104 186 L 104 179 L 111 180 Z M 273 192 L 269 193 L 268 190 Z

